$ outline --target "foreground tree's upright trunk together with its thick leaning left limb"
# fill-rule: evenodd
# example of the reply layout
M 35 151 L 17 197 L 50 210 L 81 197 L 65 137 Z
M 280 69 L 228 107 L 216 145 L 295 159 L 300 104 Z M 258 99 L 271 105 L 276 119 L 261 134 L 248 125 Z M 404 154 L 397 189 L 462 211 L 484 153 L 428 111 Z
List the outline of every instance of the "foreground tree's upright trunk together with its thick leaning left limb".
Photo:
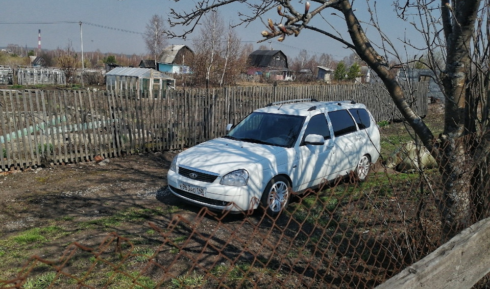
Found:
M 455 3 L 457 7 L 452 9 L 447 0 L 442 0 L 448 58 L 446 71 L 442 75 L 447 95 L 445 129 L 439 144 L 435 144 L 435 138 L 430 129 L 410 108 L 396 76 L 388 69 L 387 61 L 371 46 L 352 11 L 350 2 L 341 1 L 336 6 L 345 16 L 357 54 L 378 74 L 405 120 L 439 163 L 444 185 L 440 203 L 442 204 L 440 210 L 443 242 L 471 225 L 473 216 L 471 184 L 474 176 L 472 168 L 475 167 L 475 164 L 471 163 L 468 153 L 471 151 L 471 142 L 465 138 L 465 135 L 469 133 L 465 129 L 465 124 L 468 124 L 465 82 L 468 80 L 468 70 L 471 65 L 470 41 L 480 0 L 460 0 Z M 453 21 L 451 21 L 452 17 L 454 17 Z

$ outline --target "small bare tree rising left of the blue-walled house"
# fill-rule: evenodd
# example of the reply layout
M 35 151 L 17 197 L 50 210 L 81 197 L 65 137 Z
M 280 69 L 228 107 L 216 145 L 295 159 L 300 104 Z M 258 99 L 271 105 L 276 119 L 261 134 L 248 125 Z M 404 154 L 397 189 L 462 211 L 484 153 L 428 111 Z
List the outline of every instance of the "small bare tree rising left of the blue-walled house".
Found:
M 167 45 L 167 36 L 165 29 L 165 21 L 157 14 L 152 16 L 152 19 L 146 24 L 146 30 L 143 34 L 144 44 L 150 55 L 155 59 L 155 67 L 157 58 Z

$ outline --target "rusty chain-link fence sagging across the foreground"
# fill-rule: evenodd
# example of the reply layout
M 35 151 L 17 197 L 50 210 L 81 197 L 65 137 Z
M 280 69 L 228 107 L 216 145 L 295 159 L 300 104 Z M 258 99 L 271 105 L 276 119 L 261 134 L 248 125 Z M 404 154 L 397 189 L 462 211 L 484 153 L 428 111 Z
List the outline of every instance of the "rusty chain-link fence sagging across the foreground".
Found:
M 442 186 L 436 169 L 399 173 L 376 164 L 365 182 L 339 179 L 293 195 L 277 218 L 261 210 L 176 214 L 166 226 L 146 223 L 152 242 L 117 232 L 98 247 L 75 242 L 59 259 L 31 257 L 0 285 L 371 288 L 441 245 Z

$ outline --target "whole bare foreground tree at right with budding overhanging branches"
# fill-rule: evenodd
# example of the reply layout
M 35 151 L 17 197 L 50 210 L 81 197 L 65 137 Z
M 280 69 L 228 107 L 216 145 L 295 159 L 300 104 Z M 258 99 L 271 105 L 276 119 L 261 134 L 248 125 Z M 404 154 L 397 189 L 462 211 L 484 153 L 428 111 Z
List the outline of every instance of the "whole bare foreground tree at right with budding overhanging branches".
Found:
M 439 48 L 444 52 L 444 67 L 437 67 L 433 58 L 429 57 L 429 65 L 439 72 L 436 74 L 440 75 L 437 81 L 446 97 L 444 133 L 439 137 L 434 136 L 422 117 L 411 108 L 408 100 L 410 92 L 402 90 L 401 83 L 390 69 L 388 58 L 402 57 L 393 49 L 393 42 L 386 37 L 376 20 L 376 3 L 366 1 L 372 17 L 365 23 L 358 20 L 352 7 L 354 2 L 349 0 L 315 0 L 316 6 L 311 10 L 309 2 L 305 2 L 304 9 L 297 10 L 293 5 L 297 1 L 291 0 L 205 0 L 197 3 L 195 9 L 189 9 L 188 13 L 170 11 L 173 17 L 171 25 L 188 28 L 180 35 L 171 36 L 185 37 L 194 30 L 204 14 L 234 2 L 248 5 L 250 9 L 249 14 L 238 13 L 243 23 L 259 19 L 273 8 L 277 9 L 279 21 L 269 19 L 264 23 L 266 29 L 262 31 L 262 36 L 265 40 L 277 37 L 278 41 L 283 41 L 288 36 L 299 36 L 304 29 L 315 31 L 352 49 L 377 74 L 407 124 L 439 163 L 444 183 L 444 192 L 440 196 L 443 241 L 470 225 L 475 218 L 488 216 L 488 211 L 485 212 L 481 205 L 482 200 L 488 200 L 488 189 L 485 191 L 481 183 L 489 179 L 490 163 L 489 0 L 395 2 L 400 18 L 407 23 L 418 23 L 413 25 L 422 32 L 425 51 Z M 332 14 L 327 10 L 341 14 L 350 39 L 328 32 L 328 25 L 325 28 L 310 25 L 314 17 L 325 18 Z M 325 13 L 320 15 L 322 11 Z M 442 20 L 438 22 L 437 19 Z M 367 27 L 375 28 L 382 43 L 376 45 L 367 37 L 364 32 Z M 406 42 L 410 44 L 408 40 Z M 483 203 L 488 208 L 488 201 Z

